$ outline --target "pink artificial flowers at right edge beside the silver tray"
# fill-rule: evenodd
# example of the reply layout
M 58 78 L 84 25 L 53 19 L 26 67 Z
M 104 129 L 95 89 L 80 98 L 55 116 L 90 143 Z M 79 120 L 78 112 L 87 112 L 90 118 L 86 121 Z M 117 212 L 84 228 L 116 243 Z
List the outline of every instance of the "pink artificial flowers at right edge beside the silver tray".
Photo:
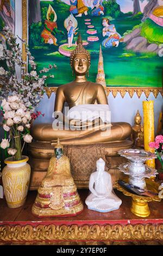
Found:
M 155 154 L 161 163 L 161 169 L 158 172 L 163 173 L 163 136 L 156 136 L 154 142 L 149 143 L 149 147 L 155 150 Z

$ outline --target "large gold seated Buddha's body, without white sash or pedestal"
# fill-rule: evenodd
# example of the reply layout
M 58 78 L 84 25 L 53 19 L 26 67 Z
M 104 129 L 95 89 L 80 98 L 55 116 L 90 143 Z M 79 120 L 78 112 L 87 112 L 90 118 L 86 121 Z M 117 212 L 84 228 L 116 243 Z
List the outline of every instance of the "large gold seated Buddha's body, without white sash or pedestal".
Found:
M 55 97 L 55 114 L 60 117 L 63 113 L 65 102 L 68 107 L 80 106 L 96 106 L 99 109 L 103 105 L 108 105 L 105 90 L 101 84 L 89 82 L 86 80 L 86 74 L 89 72 L 91 60 L 90 53 L 82 45 L 82 38 L 79 34 L 77 40 L 77 47 L 72 51 L 70 57 L 71 68 L 76 75 L 74 81 L 64 84 L 57 89 Z M 97 105 L 96 105 L 97 103 Z M 66 115 L 60 120 L 65 125 L 73 124 L 72 120 L 67 120 Z M 122 142 L 131 135 L 131 126 L 128 123 L 112 123 L 106 124 L 98 123 L 98 118 L 93 120 L 90 128 L 89 122 L 86 122 L 86 129 L 53 129 L 52 124 L 36 124 L 33 125 L 31 132 L 36 141 L 39 142 L 53 142 L 57 143 L 57 138 L 66 145 L 85 145 L 93 143 L 107 143 L 107 142 Z M 82 124 L 82 122 L 81 122 Z M 78 122 L 78 127 L 83 127 Z M 103 129 L 103 127 L 110 126 L 110 129 Z M 103 129 L 103 130 L 102 130 Z

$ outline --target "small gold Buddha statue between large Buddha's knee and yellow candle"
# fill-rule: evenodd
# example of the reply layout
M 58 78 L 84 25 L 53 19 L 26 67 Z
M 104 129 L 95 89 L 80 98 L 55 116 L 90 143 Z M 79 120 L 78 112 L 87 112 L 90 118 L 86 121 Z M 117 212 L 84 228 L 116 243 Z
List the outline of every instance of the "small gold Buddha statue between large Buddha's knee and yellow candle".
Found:
M 143 147 L 143 125 L 141 125 L 141 115 L 139 110 L 134 118 L 134 126 L 132 127 L 132 137 L 135 147 Z

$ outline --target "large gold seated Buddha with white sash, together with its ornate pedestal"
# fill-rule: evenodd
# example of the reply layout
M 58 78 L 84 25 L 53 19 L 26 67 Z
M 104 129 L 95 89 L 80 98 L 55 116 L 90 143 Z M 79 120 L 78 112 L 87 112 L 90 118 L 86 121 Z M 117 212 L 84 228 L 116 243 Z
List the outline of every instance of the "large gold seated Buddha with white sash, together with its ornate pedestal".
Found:
M 110 111 L 104 87 L 86 80 L 91 64 L 90 53 L 83 47 L 80 34 L 77 47 L 71 53 L 70 64 L 76 78 L 58 87 L 55 96 L 54 116 L 59 126 L 61 124 L 61 129 L 54 129 L 52 124 L 36 124 L 31 129 L 35 142 L 29 145 L 32 167 L 30 189 L 36 189 L 45 176 L 53 154 L 51 143 L 57 143 L 58 138 L 65 146 L 65 154 L 70 159 L 71 172 L 78 188 L 88 188 L 90 175 L 96 169 L 99 158 L 105 160 L 110 172 L 116 172 L 115 166 L 122 163 L 117 151 L 131 148 L 133 144 L 127 140 L 131 135 L 130 124 L 111 124 L 108 121 Z M 65 102 L 72 116 L 63 114 Z M 73 112 L 78 113 L 78 117 L 73 116 Z M 71 124 L 76 124 L 78 129 L 70 129 Z M 117 175 L 112 182 L 114 180 L 117 180 Z

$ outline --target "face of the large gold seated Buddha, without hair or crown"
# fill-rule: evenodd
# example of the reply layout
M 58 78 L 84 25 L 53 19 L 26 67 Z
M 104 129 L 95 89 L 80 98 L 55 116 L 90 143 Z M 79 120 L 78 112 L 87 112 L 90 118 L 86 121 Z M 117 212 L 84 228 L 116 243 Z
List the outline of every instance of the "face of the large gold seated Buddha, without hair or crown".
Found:
M 84 76 L 89 70 L 89 60 L 86 54 L 78 53 L 73 59 L 72 68 L 77 76 Z

